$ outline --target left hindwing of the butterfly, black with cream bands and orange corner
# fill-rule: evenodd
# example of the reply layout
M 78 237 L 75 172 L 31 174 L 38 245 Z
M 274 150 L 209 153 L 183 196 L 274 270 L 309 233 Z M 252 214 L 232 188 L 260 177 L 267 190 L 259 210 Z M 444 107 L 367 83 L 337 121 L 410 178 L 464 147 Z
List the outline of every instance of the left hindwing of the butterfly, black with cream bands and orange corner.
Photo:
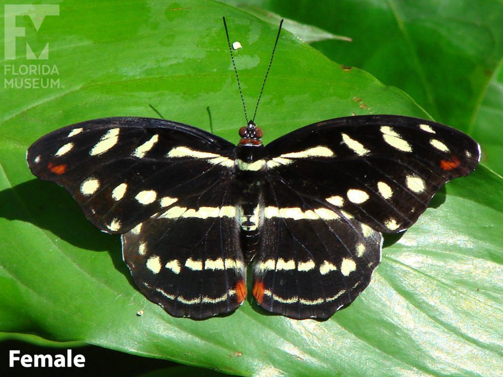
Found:
M 137 287 L 175 317 L 228 313 L 246 296 L 229 186 L 221 182 L 214 191 L 181 201 L 122 236 L 123 258 Z M 198 202 L 206 205 L 191 208 Z

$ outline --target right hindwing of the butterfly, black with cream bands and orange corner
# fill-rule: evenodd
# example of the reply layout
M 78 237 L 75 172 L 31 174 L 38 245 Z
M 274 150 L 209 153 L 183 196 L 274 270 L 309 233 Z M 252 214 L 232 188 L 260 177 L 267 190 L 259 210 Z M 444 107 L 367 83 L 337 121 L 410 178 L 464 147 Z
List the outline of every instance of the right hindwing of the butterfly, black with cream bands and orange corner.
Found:
M 280 180 L 264 189 L 254 296 L 296 319 L 329 318 L 369 284 L 382 236 L 344 211 L 302 197 Z

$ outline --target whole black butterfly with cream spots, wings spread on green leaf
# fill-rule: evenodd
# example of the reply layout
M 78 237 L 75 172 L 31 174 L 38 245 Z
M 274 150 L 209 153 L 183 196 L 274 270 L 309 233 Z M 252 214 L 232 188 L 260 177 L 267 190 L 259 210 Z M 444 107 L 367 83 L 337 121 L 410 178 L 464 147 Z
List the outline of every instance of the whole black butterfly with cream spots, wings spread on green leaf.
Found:
M 267 145 L 251 120 L 239 136 L 103 118 L 41 137 L 27 162 L 121 234 L 138 289 L 172 316 L 234 311 L 249 265 L 262 308 L 326 319 L 369 285 L 382 233 L 409 228 L 480 157 L 462 132 L 396 115 L 329 119 Z

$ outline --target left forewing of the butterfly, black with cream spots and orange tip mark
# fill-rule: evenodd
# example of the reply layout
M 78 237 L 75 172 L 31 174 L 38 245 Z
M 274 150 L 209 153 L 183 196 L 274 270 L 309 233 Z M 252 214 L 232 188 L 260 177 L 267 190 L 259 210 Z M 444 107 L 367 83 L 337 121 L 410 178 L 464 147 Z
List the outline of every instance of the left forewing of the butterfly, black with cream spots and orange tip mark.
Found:
M 104 118 L 45 135 L 28 149 L 27 161 L 39 178 L 65 187 L 94 225 L 124 233 L 231 174 L 233 149 L 176 122 Z

